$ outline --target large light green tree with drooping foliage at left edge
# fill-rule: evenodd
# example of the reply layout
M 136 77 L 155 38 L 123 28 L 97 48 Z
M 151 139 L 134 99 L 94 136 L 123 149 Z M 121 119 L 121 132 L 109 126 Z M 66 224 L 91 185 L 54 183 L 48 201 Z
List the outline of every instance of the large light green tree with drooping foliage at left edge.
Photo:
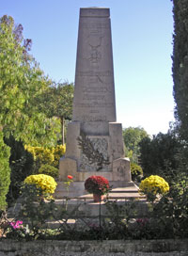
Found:
M 55 141 L 53 122 L 38 111 L 36 99 L 52 82 L 28 52 L 23 26 L 11 17 L 0 19 L 0 127 L 4 136 L 33 144 Z

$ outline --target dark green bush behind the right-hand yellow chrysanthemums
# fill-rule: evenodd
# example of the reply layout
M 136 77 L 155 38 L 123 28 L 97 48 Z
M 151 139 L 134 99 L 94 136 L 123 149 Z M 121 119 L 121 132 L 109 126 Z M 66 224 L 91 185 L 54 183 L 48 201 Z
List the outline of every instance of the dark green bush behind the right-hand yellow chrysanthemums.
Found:
M 159 133 L 153 138 L 145 137 L 140 143 L 141 167 L 145 176 L 158 174 L 163 177 L 179 168 L 181 151 L 179 138 L 173 133 Z

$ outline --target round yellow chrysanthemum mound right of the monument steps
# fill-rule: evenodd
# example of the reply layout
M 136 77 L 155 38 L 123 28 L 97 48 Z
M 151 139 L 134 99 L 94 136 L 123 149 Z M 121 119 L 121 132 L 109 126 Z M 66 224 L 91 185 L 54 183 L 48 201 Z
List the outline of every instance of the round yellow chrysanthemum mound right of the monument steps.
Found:
M 157 195 L 164 195 L 168 191 L 168 183 L 158 175 L 150 175 L 139 186 L 139 192 L 144 193 L 149 201 L 156 200 Z

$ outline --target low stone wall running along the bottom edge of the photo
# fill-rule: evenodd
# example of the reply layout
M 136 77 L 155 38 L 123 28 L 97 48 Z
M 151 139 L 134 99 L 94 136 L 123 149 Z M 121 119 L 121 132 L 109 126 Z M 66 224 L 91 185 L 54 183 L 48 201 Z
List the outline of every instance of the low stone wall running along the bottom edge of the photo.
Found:
M 111 241 L 0 241 L 0 256 L 187 256 L 188 239 Z

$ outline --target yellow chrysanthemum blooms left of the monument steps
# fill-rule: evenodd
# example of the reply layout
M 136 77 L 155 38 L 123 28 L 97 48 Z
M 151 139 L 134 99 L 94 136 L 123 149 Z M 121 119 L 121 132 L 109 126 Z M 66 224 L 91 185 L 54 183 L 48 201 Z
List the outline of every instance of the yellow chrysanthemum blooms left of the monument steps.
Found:
M 30 175 L 24 179 L 24 184 L 35 184 L 44 196 L 55 193 L 55 179 L 46 174 Z

